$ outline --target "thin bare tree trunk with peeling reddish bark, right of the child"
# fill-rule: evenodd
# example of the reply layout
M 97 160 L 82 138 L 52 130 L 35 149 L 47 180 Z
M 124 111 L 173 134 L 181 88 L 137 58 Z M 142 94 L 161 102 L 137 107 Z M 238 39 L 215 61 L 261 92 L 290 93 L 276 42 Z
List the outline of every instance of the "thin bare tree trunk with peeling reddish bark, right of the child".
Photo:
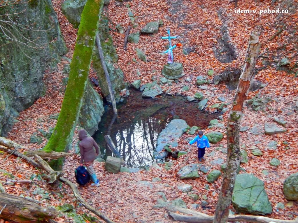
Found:
M 221 192 L 218 197 L 215 217 L 213 223 L 225 223 L 229 216 L 229 205 L 232 200 L 234 183 L 237 175 L 237 169 L 240 165 L 240 146 L 239 146 L 239 128 L 240 118 L 242 117 L 242 109 L 249 92 L 250 81 L 254 74 L 254 67 L 257 61 L 260 43 L 257 33 L 252 32 L 249 37 L 249 45 L 246 52 L 246 58 L 243 64 L 242 73 L 232 111 L 228 119 L 227 125 L 227 168 L 224 173 Z

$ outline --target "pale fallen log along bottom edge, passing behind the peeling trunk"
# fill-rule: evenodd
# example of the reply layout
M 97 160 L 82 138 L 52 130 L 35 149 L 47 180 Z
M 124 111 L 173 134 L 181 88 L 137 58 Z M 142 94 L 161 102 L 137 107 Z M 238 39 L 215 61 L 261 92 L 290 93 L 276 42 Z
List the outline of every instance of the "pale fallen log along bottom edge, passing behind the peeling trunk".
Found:
M 198 211 L 193 211 L 187 208 L 180 208 L 174 205 L 167 206 L 170 216 L 176 221 L 191 222 L 191 223 L 212 223 L 214 216 L 207 215 Z M 187 214 L 187 215 L 183 215 Z M 228 217 L 229 222 L 255 222 L 255 223 L 298 223 L 298 218 L 294 220 L 273 219 L 265 216 L 257 215 L 233 215 Z

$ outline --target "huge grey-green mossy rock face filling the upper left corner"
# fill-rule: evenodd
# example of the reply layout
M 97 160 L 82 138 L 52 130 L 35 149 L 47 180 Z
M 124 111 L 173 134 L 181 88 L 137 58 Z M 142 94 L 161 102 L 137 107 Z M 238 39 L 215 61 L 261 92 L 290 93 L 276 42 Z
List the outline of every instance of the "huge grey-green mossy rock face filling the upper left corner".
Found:
M 5 14 L 10 14 L 9 18 Z M 52 71 L 60 61 L 60 56 L 66 54 L 67 48 L 50 0 L 34 1 L 34 4 L 24 1 L 22 4 L 13 4 L 13 7 L 10 4 L 1 6 L 1 15 L 1 20 L 11 19 L 24 27 L 22 29 L 13 23 L 1 22 L 8 36 L 22 42 L 0 35 L 0 135 L 5 136 L 15 122 L 14 117 L 18 117 L 18 112 L 30 107 L 41 95 L 45 70 Z

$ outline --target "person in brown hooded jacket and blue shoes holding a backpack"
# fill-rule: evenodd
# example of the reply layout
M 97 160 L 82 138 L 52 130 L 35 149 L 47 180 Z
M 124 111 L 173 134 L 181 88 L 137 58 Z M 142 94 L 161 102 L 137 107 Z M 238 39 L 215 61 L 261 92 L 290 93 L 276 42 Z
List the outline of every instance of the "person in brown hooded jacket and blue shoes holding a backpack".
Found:
M 91 179 L 94 182 L 91 185 L 99 186 L 99 180 L 97 179 L 96 173 L 93 168 L 93 162 L 99 154 L 98 145 L 92 137 L 87 136 L 87 132 L 84 129 L 81 129 L 79 131 L 79 140 L 81 141 L 79 143 L 81 154 L 80 166 L 83 166 L 83 163 L 86 165 L 87 171 L 89 172 Z M 95 147 L 95 151 L 93 147 Z

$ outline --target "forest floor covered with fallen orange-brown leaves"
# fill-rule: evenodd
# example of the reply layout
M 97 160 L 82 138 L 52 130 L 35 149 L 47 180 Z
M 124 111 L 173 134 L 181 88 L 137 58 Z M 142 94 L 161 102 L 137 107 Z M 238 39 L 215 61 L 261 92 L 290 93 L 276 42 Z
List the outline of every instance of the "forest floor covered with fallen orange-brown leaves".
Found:
M 272 1 L 243 1 L 238 4 L 241 9 L 260 10 L 266 8 L 276 9 L 279 6 L 279 1 L 275 3 Z M 286 2 L 286 1 L 285 1 Z M 297 7 L 297 1 L 293 1 Z M 139 24 L 137 28 L 133 28 L 132 32 L 137 32 L 141 27 L 150 21 L 157 21 L 162 19 L 164 25 L 159 28 L 159 33 L 153 35 L 141 35 L 138 44 L 128 43 L 128 50 L 123 50 L 124 34 L 120 34 L 116 30 L 116 25 L 121 24 L 123 27 L 130 25 L 130 18 L 128 17 L 127 7 L 125 4 L 130 4 L 130 8 L 136 17 L 136 23 Z M 61 0 L 53 0 L 52 4 L 57 12 L 61 31 L 65 43 L 69 49 L 67 57 L 72 58 L 76 32 L 72 25 L 66 20 L 61 12 Z M 179 7 L 179 12 L 173 11 L 173 4 Z M 230 63 L 221 63 L 215 58 L 213 53 L 213 46 L 216 45 L 218 37 L 220 37 L 220 28 L 223 20 L 218 18 L 218 11 L 224 9 L 224 21 L 228 26 L 229 36 L 231 43 L 235 46 L 237 57 Z M 169 12 L 171 11 L 171 12 Z M 252 173 L 265 184 L 265 190 L 268 198 L 272 204 L 273 212 L 268 215 L 271 218 L 278 219 L 294 219 L 298 214 L 298 203 L 289 202 L 283 195 L 283 181 L 289 175 L 296 173 L 298 169 L 298 123 L 297 113 L 290 112 L 289 108 L 294 105 L 298 100 L 298 78 L 295 77 L 297 73 L 297 32 L 293 33 L 293 26 L 298 24 L 298 10 L 294 13 L 283 15 L 272 14 L 237 14 L 234 13 L 234 4 L 229 4 L 228 1 L 204 1 L 204 4 L 199 4 L 199 1 L 152 1 L 152 0 L 133 0 L 124 2 L 122 7 L 115 5 L 115 1 L 111 0 L 107 8 L 108 17 L 110 22 L 110 33 L 113 36 L 114 45 L 117 47 L 119 55 L 119 66 L 123 70 L 125 80 L 133 82 L 141 78 L 142 84 L 152 82 L 153 76 L 162 77 L 161 70 L 166 63 L 166 56 L 160 54 L 165 50 L 167 42 L 161 40 L 160 36 L 166 35 L 166 28 L 170 28 L 172 35 L 178 35 L 181 38 L 173 41 L 183 42 L 183 47 L 192 48 L 193 52 L 184 55 L 182 48 L 174 49 L 175 61 L 183 63 L 184 76 L 178 84 L 171 87 L 171 92 L 182 93 L 183 95 L 193 96 L 195 92 L 201 91 L 196 84 L 196 76 L 206 76 L 210 80 L 213 77 L 207 75 L 208 70 L 214 70 L 214 75 L 224 71 L 227 67 L 240 68 L 246 55 L 249 34 L 252 30 L 260 33 L 260 43 L 262 44 L 260 53 L 268 51 L 269 64 L 266 69 L 260 70 L 255 80 L 264 84 L 268 84 L 262 91 L 262 97 L 270 97 L 271 100 L 264 110 L 253 111 L 250 107 L 245 107 L 243 110 L 244 117 L 241 125 L 252 128 L 257 125 L 261 128 L 264 127 L 265 122 L 274 123 L 273 117 L 282 117 L 287 121 L 284 134 L 275 134 L 272 136 L 261 134 L 253 135 L 251 132 L 240 133 L 240 145 L 246 148 L 248 153 L 248 162 L 241 164 L 247 173 Z M 282 16 L 282 17 L 277 17 Z M 277 32 L 283 25 L 277 26 L 278 21 L 283 22 L 288 29 L 285 29 L 279 37 L 268 41 L 268 39 Z M 296 40 L 293 40 L 293 38 Z M 280 46 L 286 44 L 284 51 L 280 52 Z M 147 55 L 148 62 L 142 62 L 136 57 L 135 48 L 140 48 Z M 291 63 L 287 69 L 292 69 L 293 74 L 286 71 L 277 70 L 276 62 L 274 59 L 281 58 L 279 53 L 283 56 L 291 58 Z M 58 64 L 58 69 L 62 70 L 63 65 L 68 63 L 67 60 L 62 60 Z M 263 67 L 262 60 L 257 61 L 256 68 Z M 296 69 L 296 70 L 295 70 Z M 137 76 L 137 71 L 141 72 L 141 76 Z M 37 132 L 37 129 L 43 128 L 48 130 L 49 127 L 55 127 L 56 120 L 49 119 L 49 115 L 57 114 L 60 111 L 61 103 L 63 100 L 63 91 L 60 92 L 62 86 L 62 79 L 65 74 L 55 72 L 46 74 L 44 82 L 47 86 L 47 92 L 44 97 L 39 98 L 35 103 L 25 111 L 20 113 L 18 122 L 13 126 L 12 131 L 8 134 L 8 138 L 24 145 L 28 150 L 35 150 L 43 147 L 46 141 L 40 145 L 30 143 L 30 136 Z M 190 78 L 191 81 L 186 81 Z M 181 92 L 181 87 L 189 85 L 190 90 Z M 164 85 L 163 90 L 168 90 L 169 86 Z M 230 91 L 224 84 L 214 85 L 210 84 L 208 90 L 212 90 L 212 97 L 209 97 L 207 110 L 212 111 L 210 105 L 218 103 L 219 96 L 226 98 L 227 102 L 232 102 L 235 94 Z M 206 91 L 206 90 L 205 90 Z M 248 98 L 254 97 L 258 91 L 250 92 Z M 231 103 L 227 106 L 231 109 Z M 214 109 L 213 109 L 214 110 Z M 195 112 L 195 111 L 194 111 Z M 220 123 L 226 124 L 229 112 L 223 114 L 223 119 L 219 120 Z M 211 128 L 204 130 L 205 133 L 211 131 L 220 131 L 224 134 L 224 139 L 217 144 L 212 144 L 206 151 L 206 160 L 203 162 L 205 166 L 212 169 L 219 169 L 220 165 L 211 165 L 210 162 L 214 159 L 222 158 L 226 160 L 226 154 L 215 150 L 215 148 L 222 145 L 226 147 L 226 135 L 224 128 Z M 164 192 L 167 200 L 174 200 L 182 198 L 187 203 L 189 208 L 191 204 L 197 203 L 199 206 L 196 211 L 206 214 L 214 214 L 218 193 L 220 191 L 221 180 L 220 177 L 214 183 L 208 183 L 206 175 L 200 174 L 201 177 L 195 180 L 180 180 L 177 178 L 176 173 L 183 166 L 191 163 L 198 163 L 197 148 L 193 145 L 187 147 L 186 139 L 192 137 L 191 135 L 184 134 L 179 140 L 177 150 L 188 150 L 186 156 L 181 156 L 178 160 L 173 161 L 174 166 L 170 170 L 164 168 L 164 164 L 159 164 L 161 169 L 150 168 L 148 171 L 140 171 L 137 173 L 118 173 L 111 174 L 105 171 L 104 163 L 94 163 L 94 169 L 100 179 L 100 187 L 91 187 L 87 185 L 80 187 L 79 190 L 82 196 L 89 204 L 93 205 L 98 210 L 106 214 L 110 219 L 115 222 L 175 222 L 168 216 L 165 208 L 152 208 L 156 204 L 158 192 Z M 257 142 L 259 141 L 259 143 Z M 268 143 L 276 141 L 276 149 L 269 150 Z M 288 145 L 283 142 L 288 142 Z M 251 153 L 252 146 L 257 146 L 262 152 L 263 156 L 257 157 Z M 212 151 L 215 151 L 214 156 L 208 156 Z M 74 150 L 69 151 L 73 156 L 66 158 L 63 172 L 66 178 L 75 183 L 74 170 L 79 164 L 79 156 L 74 153 Z M 0 156 L 3 160 L 8 154 Z M 278 167 L 269 165 L 272 158 L 278 158 L 281 164 Z M 1 169 L 6 170 L 15 177 L 15 179 L 38 179 L 41 173 L 27 164 L 24 161 L 18 161 L 16 157 L 10 156 L 5 165 L 1 161 Z M 264 175 L 263 170 L 268 171 L 268 175 Z M 35 175 L 33 175 L 35 174 Z M 1 180 L 10 178 L 10 175 L 4 175 L 0 172 Z M 152 182 L 153 178 L 159 177 L 162 181 Z M 151 185 L 146 186 L 138 181 L 148 181 Z M 199 199 L 193 201 L 186 193 L 182 193 L 177 189 L 179 183 L 187 183 L 193 186 Z M 208 184 L 210 189 L 206 190 L 205 185 Z M 43 181 L 38 181 L 38 184 L 26 186 L 4 186 L 6 191 L 15 195 L 30 196 L 34 200 L 41 201 L 44 206 L 57 206 L 64 203 L 69 203 L 75 206 L 77 213 L 86 213 L 87 211 L 80 207 L 79 203 L 72 195 L 72 191 L 67 186 L 62 186 L 60 191 L 55 191 L 51 186 Z M 49 198 L 43 200 L 41 195 L 34 194 L 33 192 L 41 188 L 48 191 Z M 63 193 L 63 196 L 61 194 Z M 201 201 L 206 199 L 207 208 L 201 207 Z M 276 207 L 278 202 L 285 204 L 284 209 Z M 231 210 L 235 211 L 231 206 Z M 59 217 L 56 218 L 58 222 L 72 222 L 71 218 Z

